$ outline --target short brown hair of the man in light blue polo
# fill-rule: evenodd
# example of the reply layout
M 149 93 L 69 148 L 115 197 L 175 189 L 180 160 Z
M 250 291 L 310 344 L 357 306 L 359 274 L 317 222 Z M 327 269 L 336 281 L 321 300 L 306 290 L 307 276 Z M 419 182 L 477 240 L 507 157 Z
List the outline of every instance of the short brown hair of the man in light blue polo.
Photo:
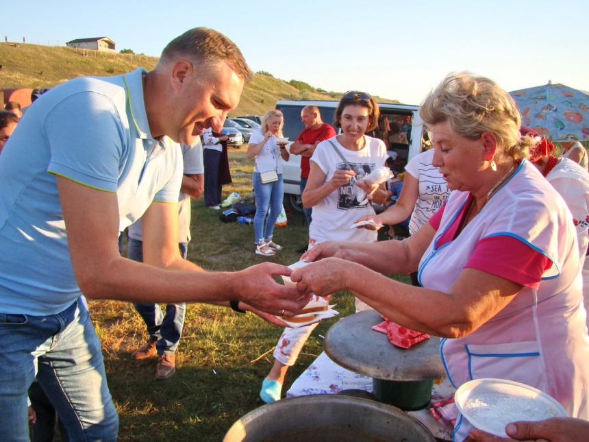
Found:
M 178 58 L 216 64 L 227 62 L 241 79 L 248 81 L 253 73 L 237 45 L 221 32 L 208 27 L 195 27 L 174 38 L 162 51 L 162 61 Z

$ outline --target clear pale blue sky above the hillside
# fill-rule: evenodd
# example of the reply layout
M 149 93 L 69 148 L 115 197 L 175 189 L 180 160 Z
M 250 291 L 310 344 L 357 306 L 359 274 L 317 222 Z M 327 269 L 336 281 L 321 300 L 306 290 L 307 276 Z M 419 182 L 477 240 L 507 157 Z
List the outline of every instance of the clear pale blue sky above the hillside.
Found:
M 588 0 L 0 0 L 0 10 L 9 41 L 108 36 L 150 56 L 212 27 L 253 71 L 409 104 L 464 70 L 507 91 L 549 80 L 589 90 Z

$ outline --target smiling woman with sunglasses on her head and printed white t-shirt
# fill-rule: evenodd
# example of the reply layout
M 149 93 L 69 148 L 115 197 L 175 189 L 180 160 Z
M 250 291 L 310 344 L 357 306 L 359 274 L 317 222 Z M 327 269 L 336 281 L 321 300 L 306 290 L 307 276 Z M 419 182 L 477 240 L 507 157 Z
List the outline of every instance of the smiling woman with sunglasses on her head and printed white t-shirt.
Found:
M 384 183 L 369 184 L 362 180 L 386 164 L 383 141 L 365 135 L 377 127 L 378 117 L 377 103 L 363 92 L 345 93 L 336 108 L 334 127 L 340 127 L 341 134 L 317 145 L 310 159 L 311 171 L 302 195 L 305 207 L 313 208 L 309 249 L 324 241 L 377 241 L 377 232 L 351 226 L 358 218 L 375 214 L 369 200 L 361 198 L 358 201 L 357 188 L 377 204 L 384 204 L 388 195 Z M 326 299 L 321 301 L 326 302 Z M 356 311 L 366 308 L 366 304 L 356 299 Z M 262 383 L 260 397 L 264 402 L 280 399 L 286 371 L 294 365 L 316 326 L 314 323 L 284 330 L 276 345 L 273 368 Z

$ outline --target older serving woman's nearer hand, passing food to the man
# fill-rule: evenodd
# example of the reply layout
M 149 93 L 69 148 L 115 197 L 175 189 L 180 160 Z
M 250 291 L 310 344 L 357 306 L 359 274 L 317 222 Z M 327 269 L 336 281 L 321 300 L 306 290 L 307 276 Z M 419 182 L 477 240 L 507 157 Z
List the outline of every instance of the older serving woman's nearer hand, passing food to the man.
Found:
M 354 265 L 346 260 L 326 258 L 294 270 L 290 279 L 297 282 L 297 289 L 303 293 L 327 296 L 346 289 L 345 276 Z

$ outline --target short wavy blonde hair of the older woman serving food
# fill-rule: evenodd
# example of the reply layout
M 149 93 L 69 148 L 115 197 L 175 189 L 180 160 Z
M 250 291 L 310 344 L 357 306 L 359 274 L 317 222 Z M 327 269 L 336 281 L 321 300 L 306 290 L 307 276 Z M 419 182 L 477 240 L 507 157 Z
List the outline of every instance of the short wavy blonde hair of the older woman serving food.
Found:
M 512 97 L 491 79 L 468 72 L 448 75 L 425 97 L 419 114 L 426 125 L 445 121 L 453 132 L 472 140 L 491 132 L 502 154 L 514 160 L 526 158 L 534 145 L 519 132 L 521 116 Z

